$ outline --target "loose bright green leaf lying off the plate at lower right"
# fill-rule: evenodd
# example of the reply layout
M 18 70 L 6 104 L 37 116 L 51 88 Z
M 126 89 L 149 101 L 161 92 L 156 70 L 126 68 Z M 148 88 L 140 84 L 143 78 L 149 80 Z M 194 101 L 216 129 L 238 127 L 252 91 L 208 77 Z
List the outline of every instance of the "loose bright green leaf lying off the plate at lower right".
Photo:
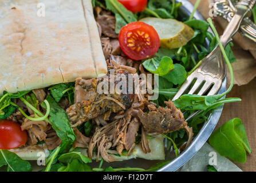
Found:
M 209 143 L 221 156 L 237 162 L 246 161 L 246 150 L 251 153 L 245 127 L 239 118 L 234 118 L 220 126 L 212 133 Z

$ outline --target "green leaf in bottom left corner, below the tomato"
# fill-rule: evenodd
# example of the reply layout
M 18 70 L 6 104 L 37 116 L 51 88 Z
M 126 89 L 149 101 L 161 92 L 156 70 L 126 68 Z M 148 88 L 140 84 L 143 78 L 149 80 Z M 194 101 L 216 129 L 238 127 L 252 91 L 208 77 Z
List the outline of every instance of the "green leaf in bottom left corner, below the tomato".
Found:
M 9 150 L 0 149 L 0 167 L 4 165 L 7 165 L 10 172 L 30 172 L 32 170 L 28 161 L 22 160 Z

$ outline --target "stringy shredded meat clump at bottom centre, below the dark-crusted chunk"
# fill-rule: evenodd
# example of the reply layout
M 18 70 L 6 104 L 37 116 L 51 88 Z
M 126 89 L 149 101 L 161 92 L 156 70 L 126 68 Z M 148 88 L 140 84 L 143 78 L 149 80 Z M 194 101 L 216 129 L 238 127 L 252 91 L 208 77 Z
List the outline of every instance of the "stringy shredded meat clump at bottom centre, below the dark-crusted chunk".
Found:
M 116 159 L 109 154 L 109 152 L 113 152 L 113 150 L 109 150 L 110 148 L 116 148 L 117 153 L 120 155 L 125 148 L 128 150 L 129 156 L 135 146 L 135 138 L 140 126 L 139 121 L 129 115 L 130 112 L 131 110 L 129 109 L 127 113 L 125 113 L 125 117 L 96 130 L 90 140 L 88 148 L 89 158 L 92 158 L 95 146 L 97 146 L 98 149 L 97 161 L 100 155 L 107 162 L 116 161 Z

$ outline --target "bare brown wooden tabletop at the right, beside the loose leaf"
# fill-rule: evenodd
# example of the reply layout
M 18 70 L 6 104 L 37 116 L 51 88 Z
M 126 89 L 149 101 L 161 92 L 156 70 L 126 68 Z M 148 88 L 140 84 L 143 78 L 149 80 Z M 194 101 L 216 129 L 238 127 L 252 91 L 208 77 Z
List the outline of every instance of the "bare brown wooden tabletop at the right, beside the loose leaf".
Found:
M 243 171 L 256 172 L 256 78 L 247 85 L 234 86 L 227 97 L 239 97 L 242 101 L 225 104 L 216 128 L 236 117 L 242 120 L 251 146 L 251 154 L 247 155 L 245 163 L 234 162 L 234 164 Z

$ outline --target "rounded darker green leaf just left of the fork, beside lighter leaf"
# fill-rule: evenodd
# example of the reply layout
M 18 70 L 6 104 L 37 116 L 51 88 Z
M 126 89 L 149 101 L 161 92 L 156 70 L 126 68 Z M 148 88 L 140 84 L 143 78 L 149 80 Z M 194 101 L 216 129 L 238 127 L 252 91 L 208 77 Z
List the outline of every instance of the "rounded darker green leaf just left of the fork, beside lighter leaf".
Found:
M 174 85 L 181 85 L 187 79 L 187 71 L 182 65 L 175 63 L 174 69 L 162 77 L 174 83 Z

